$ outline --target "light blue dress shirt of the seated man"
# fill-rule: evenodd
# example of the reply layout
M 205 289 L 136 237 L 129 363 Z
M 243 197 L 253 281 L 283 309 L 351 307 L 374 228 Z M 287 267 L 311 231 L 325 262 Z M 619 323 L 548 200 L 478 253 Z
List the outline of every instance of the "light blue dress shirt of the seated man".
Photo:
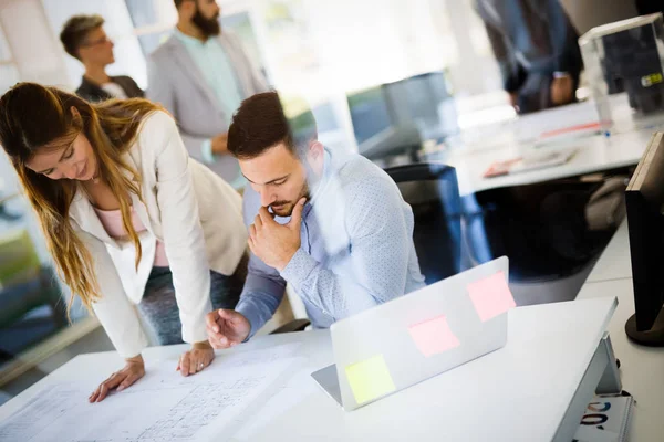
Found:
M 247 225 L 260 207 L 247 186 Z M 250 336 L 272 317 L 287 282 L 315 328 L 423 287 L 413 227 L 413 211 L 385 171 L 362 156 L 325 150 L 323 177 L 302 211 L 300 249 L 281 273 L 250 256 L 236 307 L 251 323 Z

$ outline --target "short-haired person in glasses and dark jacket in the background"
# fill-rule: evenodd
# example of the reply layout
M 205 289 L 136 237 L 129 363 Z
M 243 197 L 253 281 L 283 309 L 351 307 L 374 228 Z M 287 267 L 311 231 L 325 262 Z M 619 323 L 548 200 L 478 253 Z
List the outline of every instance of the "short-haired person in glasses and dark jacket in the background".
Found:
M 89 102 L 108 98 L 134 98 L 145 94 L 126 75 L 110 76 L 106 66 L 115 62 L 113 42 L 104 32 L 100 15 L 74 15 L 64 23 L 60 41 L 68 54 L 85 66 L 76 94 Z

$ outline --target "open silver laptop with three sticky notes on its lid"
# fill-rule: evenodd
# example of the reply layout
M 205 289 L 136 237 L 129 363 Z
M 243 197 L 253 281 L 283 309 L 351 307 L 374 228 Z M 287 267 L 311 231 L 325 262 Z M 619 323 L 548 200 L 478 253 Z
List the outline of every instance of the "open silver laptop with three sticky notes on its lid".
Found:
M 504 347 L 508 274 L 502 256 L 334 323 L 335 364 L 311 376 L 352 411 Z

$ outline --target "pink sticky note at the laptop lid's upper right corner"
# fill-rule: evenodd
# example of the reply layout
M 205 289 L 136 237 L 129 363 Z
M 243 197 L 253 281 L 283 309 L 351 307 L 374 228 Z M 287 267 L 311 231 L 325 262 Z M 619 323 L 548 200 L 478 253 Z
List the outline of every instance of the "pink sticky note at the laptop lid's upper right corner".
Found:
M 467 288 L 483 323 L 517 306 L 502 272 L 468 284 Z

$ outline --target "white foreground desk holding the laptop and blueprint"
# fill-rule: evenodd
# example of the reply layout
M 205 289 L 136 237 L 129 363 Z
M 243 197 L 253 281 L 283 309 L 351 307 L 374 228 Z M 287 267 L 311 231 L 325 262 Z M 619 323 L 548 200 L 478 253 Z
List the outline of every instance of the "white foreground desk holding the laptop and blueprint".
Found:
M 309 376 L 310 370 L 332 362 L 328 332 L 260 337 L 231 351 L 300 340 L 304 344 L 300 354 L 308 358 L 303 364 L 307 370 L 293 370 L 294 382 L 289 382 L 290 388 L 269 401 L 268 398 L 259 401 L 264 403 L 262 409 L 272 410 L 271 420 L 251 425 L 263 418 L 261 409 L 250 410 L 245 423 L 249 428 L 241 428 L 234 439 L 552 440 L 570 403 L 579 398 L 578 389 L 588 396 L 582 398 L 585 403 L 592 394 L 592 390 L 580 386 L 592 371 L 589 367 L 593 366 L 591 360 L 595 360 L 593 356 L 612 311 L 611 298 L 510 311 L 505 348 L 350 413 L 318 390 Z M 148 349 L 145 354 L 148 369 L 157 359 L 170 358 L 175 362 L 181 348 Z M 87 383 L 104 378 L 120 362 L 113 352 L 77 357 L 0 408 L 0 419 L 51 382 Z M 174 376 L 179 375 L 174 372 Z M 581 418 L 583 407 L 584 403 L 578 413 L 572 413 L 577 414 L 574 420 Z M 274 417 L 273 410 L 280 415 Z

